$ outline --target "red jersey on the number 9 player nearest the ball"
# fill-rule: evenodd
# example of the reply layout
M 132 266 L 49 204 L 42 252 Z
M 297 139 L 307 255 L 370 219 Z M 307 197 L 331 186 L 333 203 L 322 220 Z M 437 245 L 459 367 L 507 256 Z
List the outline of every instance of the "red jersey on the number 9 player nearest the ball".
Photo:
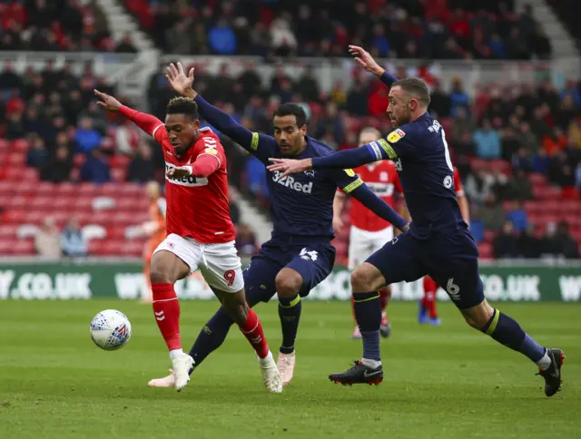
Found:
M 218 136 L 210 128 L 202 128 L 198 141 L 178 158 L 163 125 L 153 130 L 153 138 L 162 145 L 165 171 L 192 164 L 203 154 L 220 161 L 220 167 L 208 178 L 165 176 L 167 200 L 166 229 L 193 238 L 204 244 L 229 242 L 236 237 L 230 218 L 226 155 Z

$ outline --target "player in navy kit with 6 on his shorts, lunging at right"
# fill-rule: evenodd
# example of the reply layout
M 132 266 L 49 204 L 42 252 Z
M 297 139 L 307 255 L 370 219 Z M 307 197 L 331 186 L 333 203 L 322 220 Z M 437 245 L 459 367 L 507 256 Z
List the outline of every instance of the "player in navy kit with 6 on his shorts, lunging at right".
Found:
M 563 352 L 539 346 L 515 320 L 491 307 L 484 297 L 478 275 L 478 247 L 460 215 L 454 194 L 454 168 L 446 134 L 428 113 L 428 86 L 418 78 L 398 81 L 358 46 L 350 46 L 350 54 L 391 87 L 387 112 L 395 130 L 386 139 L 354 150 L 300 161 L 273 158 L 275 164 L 269 166 L 271 171 L 282 171 L 285 176 L 392 160 L 399 171 L 412 222 L 408 232 L 391 240 L 353 271 L 351 287 L 363 338 L 363 357 L 347 371 L 331 374 L 330 380 L 347 385 L 379 384 L 383 380 L 377 291 L 428 274 L 448 292 L 468 325 L 535 362 L 539 375 L 545 378 L 545 394 L 555 395 L 561 387 Z

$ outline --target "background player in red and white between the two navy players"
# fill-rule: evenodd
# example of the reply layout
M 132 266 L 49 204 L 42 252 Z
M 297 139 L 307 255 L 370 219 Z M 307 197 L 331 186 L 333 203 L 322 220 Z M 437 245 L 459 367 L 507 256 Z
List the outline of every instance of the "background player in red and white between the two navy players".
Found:
M 381 137 L 379 130 L 364 128 L 359 133 L 359 146 L 377 141 Z M 360 166 L 354 170 L 361 180 L 373 190 L 379 198 L 386 201 L 389 206 L 394 206 L 394 192 L 401 194 L 398 171 L 393 161 L 376 161 Z M 333 203 L 333 229 L 343 227 L 341 211 L 347 195 L 342 190 L 335 194 Z M 385 219 L 380 219 L 371 210 L 363 206 L 358 200 L 352 200 L 350 206 L 350 240 L 349 240 L 349 269 L 352 271 L 359 267 L 365 259 L 381 249 L 393 239 L 393 226 Z M 381 326 L 379 332 L 383 337 L 389 337 L 391 327 L 386 313 L 386 307 L 391 296 L 391 288 L 388 286 L 379 291 L 381 300 Z M 351 307 L 353 302 L 351 301 Z M 355 325 L 353 338 L 360 338 L 359 327 Z

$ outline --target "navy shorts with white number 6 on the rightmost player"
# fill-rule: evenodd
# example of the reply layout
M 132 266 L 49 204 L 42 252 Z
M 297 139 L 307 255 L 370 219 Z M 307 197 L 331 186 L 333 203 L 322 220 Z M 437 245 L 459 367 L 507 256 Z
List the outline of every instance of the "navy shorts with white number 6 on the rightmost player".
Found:
M 478 247 L 468 230 L 416 239 L 409 232 L 392 239 L 366 260 L 386 283 L 412 282 L 431 276 L 459 309 L 484 300 L 478 273 Z

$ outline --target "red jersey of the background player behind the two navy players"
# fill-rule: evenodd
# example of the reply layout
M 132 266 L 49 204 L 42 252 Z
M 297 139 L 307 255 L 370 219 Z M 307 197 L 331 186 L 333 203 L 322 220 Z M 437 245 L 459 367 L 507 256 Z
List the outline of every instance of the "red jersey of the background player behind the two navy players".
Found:
M 361 180 L 369 186 L 369 189 L 381 199 L 393 207 L 394 192 L 401 194 L 401 183 L 398 171 L 393 161 L 375 161 L 353 170 Z M 379 218 L 375 213 L 366 208 L 358 200 L 351 200 L 350 224 L 367 231 L 379 231 L 389 227 L 389 222 Z

